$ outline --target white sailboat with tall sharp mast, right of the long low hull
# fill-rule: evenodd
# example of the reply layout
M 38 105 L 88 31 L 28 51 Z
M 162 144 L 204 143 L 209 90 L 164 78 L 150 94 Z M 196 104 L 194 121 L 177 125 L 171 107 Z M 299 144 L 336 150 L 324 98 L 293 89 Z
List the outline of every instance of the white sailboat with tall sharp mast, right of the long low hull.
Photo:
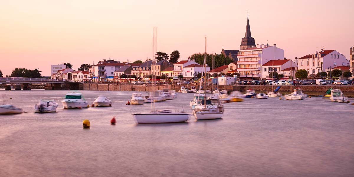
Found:
M 205 37 L 205 54 L 206 54 L 206 37 Z M 206 73 L 206 55 L 204 57 L 203 72 Z M 199 85 L 199 90 L 201 90 L 202 80 Z M 204 87 L 206 88 L 206 79 L 204 80 Z M 199 97 L 198 97 L 199 99 Z M 199 101 L 199 100 L 198 100 Z M 197 102 L 198 102 L 197 101 Z M 201 100 L 201 104 L 196 105 L 193 114 L 197 120 L 207 120 L 207 119 L 219 119 L 222 117 L 224 109 L 219 100 L 218 104 L 212 104 L 212 100 L 206 100 L 206 94 L 204 100 Z

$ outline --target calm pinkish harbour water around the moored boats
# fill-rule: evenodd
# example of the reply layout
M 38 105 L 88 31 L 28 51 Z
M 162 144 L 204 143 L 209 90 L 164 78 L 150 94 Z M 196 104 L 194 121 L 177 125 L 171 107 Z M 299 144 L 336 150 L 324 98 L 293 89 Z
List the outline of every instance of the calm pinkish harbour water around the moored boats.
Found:
M 81 91 L 90 104 L 102 95 L 113 107 L 34 113 L 40 98 L 66 93 L 0 91 L 29 112 L 0 115 L 0 176 L 354 176 L 354 105 L 246 99 L 225 104 L 219 120 L 136 124 L 131 109 L 150 104 L 125 105 L 132 92 Z M 191 112 L 192 96 L 156 107 Z

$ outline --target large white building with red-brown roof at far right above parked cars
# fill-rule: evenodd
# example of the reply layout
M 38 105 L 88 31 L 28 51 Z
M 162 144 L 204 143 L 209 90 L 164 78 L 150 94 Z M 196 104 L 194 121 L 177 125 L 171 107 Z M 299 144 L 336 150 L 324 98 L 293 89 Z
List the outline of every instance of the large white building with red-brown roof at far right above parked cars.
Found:
M 306 55 L 297 59 L 299 69 L 307 71 L 308 76 L 314 76 L 321 71 L 326 71 L 337 66 L 349 66 L 350 62 L 336 50 L 321 50 L 320 52 Z

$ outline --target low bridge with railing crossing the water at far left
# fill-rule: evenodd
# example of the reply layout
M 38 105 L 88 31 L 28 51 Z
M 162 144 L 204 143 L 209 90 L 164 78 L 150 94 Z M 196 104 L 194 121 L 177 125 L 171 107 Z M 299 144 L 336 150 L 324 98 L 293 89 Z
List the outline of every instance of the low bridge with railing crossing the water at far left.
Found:
M 73 81 L 73 80 L 44 79 L 44 78 L 0 78 L 0 83 L 10 84 L 10 85 L 21 84 L 22 90 L 31 90 L 32 84 L 34 89 L 80 90 L 82 88 L 82 83 L 84 82 Z M 21 85 L 15 85 L 15 90 L 21 90 Z

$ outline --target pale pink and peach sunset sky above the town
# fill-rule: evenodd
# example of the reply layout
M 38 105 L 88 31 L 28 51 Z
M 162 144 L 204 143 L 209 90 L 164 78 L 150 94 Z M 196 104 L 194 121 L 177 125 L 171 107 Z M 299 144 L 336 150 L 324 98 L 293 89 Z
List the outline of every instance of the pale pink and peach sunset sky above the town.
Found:
M 239 50 L 247 11 L 256 44 L 284 49 L 287 59 L 337 50 L 349 59 L 354 45 L 352 0 L 0 0 L 0 70 L 51 64 L 78 69 L 103 59 L 152 58 L 157 50 L 181 58 L 204 52 Z

